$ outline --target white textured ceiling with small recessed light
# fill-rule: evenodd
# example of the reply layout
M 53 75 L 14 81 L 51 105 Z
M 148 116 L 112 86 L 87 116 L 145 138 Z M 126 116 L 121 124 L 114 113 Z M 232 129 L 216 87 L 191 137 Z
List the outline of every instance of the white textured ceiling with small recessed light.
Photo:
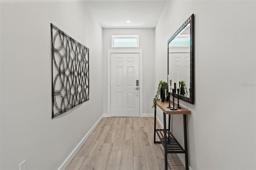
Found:
M 102 28 L 155 28 L 166 0 L 88 0 Z M 126 21 L 129 20 L 130 23 Z

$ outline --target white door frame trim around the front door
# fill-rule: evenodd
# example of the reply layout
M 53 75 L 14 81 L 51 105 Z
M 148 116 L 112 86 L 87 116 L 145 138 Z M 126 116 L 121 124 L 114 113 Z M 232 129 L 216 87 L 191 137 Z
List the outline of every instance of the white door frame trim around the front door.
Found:
M 111 53 L 139 53 L 140 54 L 140 99 L 139 99 L 139 117 L 142 117 L 143 114 L 143 107 L 142 107 L 142 92 L 143 92 L 143 50 L 142 49 L 115 49 L 115 50 L 107 50 L 108 53 L 108 58 L 107 58 L 107 62 L 108 62 L 108 113 L 107 115 L 105 115 L 106 117 L 111 117 L 111 87 L 110 87 L 110 78 L 111 78 L 111 71 L 110 71 L 110 57 L 111 57 Z

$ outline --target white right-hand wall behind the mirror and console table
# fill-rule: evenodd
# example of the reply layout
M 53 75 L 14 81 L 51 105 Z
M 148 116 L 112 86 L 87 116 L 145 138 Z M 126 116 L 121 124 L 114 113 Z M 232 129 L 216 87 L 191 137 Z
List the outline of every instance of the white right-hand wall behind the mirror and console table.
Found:
M 156 26 L 155 87 L 167 79 L 167 40 L 195 14 L 195 104 L 188 115 L 192 170 L 256 169 L 256 2 L 167 1 Z M 162 121 L 162 112 L 158 110 Z M 173 133 L 183 142 L 182 116 Z M 175 127 L 175 129 L 174 129 Z

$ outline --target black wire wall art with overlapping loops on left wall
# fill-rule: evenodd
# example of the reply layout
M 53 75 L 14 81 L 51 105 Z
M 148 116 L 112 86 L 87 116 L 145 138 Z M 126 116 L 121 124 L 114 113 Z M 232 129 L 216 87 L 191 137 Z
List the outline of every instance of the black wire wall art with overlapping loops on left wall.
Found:
M 89 100 L 89 48 L 51 24 L 52 118 Z

